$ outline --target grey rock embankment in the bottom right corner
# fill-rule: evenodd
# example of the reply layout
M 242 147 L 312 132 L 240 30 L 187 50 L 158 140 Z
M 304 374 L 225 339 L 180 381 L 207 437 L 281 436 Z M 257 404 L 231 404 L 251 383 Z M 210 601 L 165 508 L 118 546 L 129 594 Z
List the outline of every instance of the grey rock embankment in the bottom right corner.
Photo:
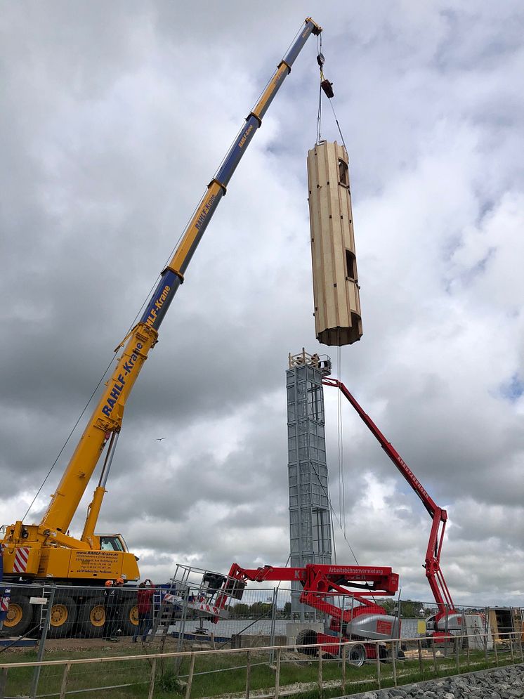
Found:
M 524 698 L 524 665 L 459 674 L 351 695 L 351 699 L 521 699 Z

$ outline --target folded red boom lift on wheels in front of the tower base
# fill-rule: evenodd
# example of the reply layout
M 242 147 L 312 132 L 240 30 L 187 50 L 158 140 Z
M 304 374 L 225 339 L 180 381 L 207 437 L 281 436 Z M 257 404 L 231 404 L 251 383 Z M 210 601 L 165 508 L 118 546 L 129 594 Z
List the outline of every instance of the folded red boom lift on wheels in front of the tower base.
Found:
M 386 610 L 370 596 L 393 595 L 398 589 L 398 575 L 391 568 L 382 566 L 336 566 L 310 563 L 304 568 L 240 568 L 233 563 L 228 577 L 218 592 L 216 606 L 224 608 L 229 598 L 242 599 L 246 582 L 266 581 L 301 582 L 303 592 L 300 601 L 330 617 L 329 633 L 306 629 L 297 636 L 298 646 L 322 644 L 320 650 L 330 655 L 340 655 L 340 644 L 348 641 L 368 641 L 350 646 L 348 661 L 362 665 L 366 659 L 376 658 L 376 641 L 398 639 L 400 620 L 388 615 Z M 354 592 L 346 589 L 353 587 Z M 351 597 L 351 609 L 343 609 L 332 603 L 335 596 Z M 330 599 L 331 598 L 331 599 Z M 369 643 L 369 641 L 374 641 Z M 317 648 L 303 648 L 303 653 L 316 655 Z M 379 657 L 386 658 L 384 644 L 379 646 Z

